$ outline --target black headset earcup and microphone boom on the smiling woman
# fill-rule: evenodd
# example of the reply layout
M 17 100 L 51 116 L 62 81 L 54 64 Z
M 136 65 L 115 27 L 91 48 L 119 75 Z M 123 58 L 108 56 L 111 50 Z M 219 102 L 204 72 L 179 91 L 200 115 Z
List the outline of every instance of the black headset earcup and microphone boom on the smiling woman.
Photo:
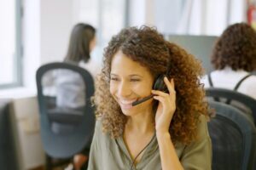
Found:
M 166 77 L 166 75 L 160 75 L 159 77 L 156 78 L 156 80 L 154 81 L 154 87 L 153 89 L 154 90 L 160 90 L 160 91 L 163 91 L 165 93 L 168 92 L 168 89 L 166 87 L 166 83 L 164 82 L 164 77 Z M 153 98 L 154 94 L 150 94 L 149 96 L 143 98 L 143 99 L 139 99 L 135 102 L 132 102 L 132 106 L 135 106 L 135 105 L 139 105 L 145 101 L 147 101 L 148 99 L 151 99 Z

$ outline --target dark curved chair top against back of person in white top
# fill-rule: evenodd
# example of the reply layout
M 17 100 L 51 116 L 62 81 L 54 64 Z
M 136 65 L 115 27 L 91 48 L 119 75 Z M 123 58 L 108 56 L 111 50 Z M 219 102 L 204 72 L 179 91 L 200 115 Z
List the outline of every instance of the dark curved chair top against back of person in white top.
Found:
M 241 94 L 239 92 L 224 88 L 207 88 L 206 95 L 207 97 L 225 99 L 220 100 L 224 102 L 229 102 L 229 100 L 231 100 L 232 102 L 234 102 L 234 105 L 232 104 L 232 102 L 230 104 L 233 106 L 237 106 L 238 108 L 241 108 L 241 105 L 244 105 L 245 107 L 247 107 L 247 109 L 250 110 L 250 114 L 252 114 L 253 116 L 253 122 L 256 125 L 256 99 L 253 99 L 246 94 Z

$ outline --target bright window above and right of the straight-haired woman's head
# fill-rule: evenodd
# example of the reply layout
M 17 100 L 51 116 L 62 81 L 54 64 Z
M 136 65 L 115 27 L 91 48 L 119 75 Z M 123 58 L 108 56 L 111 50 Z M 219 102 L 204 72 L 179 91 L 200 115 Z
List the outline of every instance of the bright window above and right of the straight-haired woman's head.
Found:
M 80 0 L 79 21 L 96 26 L 98 42 L 105 47 L 110 38 L 127 26 L 128 0 Z

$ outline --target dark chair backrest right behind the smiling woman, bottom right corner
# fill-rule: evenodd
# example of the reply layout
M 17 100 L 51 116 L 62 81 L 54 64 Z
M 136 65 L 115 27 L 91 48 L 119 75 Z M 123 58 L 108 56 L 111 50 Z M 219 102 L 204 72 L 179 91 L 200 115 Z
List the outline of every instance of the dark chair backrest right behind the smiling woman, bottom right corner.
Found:
M 253 169 L 256 162 L 256 129 L 231 105 L 209 101 L 216 116 L 208 122 L 212 139 L 212 170 Z M 255 167 L 254 167 L 255 168 Z

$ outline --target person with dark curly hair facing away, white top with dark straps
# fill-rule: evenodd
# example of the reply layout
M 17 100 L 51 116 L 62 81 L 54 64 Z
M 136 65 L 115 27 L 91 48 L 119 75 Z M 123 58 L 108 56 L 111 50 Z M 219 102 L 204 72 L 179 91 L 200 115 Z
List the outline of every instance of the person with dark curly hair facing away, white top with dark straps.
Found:
M 228 88 L 256 99 L 256 31 L 246 23 L 228 26 L 212 51 L 215 71 L 202 79 L 205 88 Z

